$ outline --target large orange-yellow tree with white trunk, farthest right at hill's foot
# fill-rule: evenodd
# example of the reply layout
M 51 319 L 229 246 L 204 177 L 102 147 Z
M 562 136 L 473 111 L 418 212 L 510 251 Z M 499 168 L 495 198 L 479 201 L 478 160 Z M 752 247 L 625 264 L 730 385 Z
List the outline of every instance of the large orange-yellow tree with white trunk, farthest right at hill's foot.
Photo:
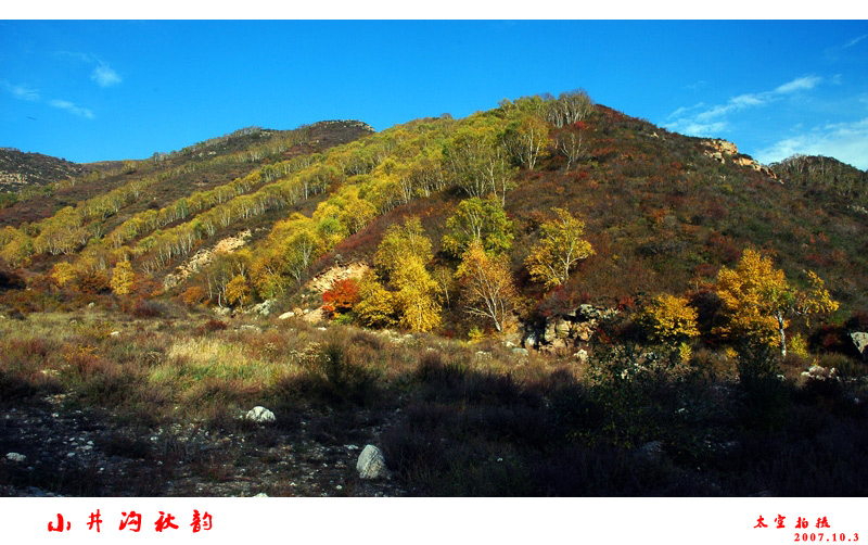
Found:
M 788 317 L 838 309 L 822 280 L 814 271 L 807 277 L 808 288 L 799 290 L 783 270 L 774 267 L 770 257 L 744 250 L 735 269 L 724 267 L 717 275 L 717 295 L 729 318 L 723 332 L 780 347 L 781 357 L 786 356 Z

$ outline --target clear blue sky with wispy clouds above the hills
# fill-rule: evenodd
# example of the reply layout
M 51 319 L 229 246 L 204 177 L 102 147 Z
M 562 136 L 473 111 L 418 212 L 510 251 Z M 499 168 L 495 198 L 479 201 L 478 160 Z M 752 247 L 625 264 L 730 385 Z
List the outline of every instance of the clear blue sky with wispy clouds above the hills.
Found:
M 76 162 L 576 88 L 763 163 L 868 168 L 864 20 L 0 21 L 0 145 Z

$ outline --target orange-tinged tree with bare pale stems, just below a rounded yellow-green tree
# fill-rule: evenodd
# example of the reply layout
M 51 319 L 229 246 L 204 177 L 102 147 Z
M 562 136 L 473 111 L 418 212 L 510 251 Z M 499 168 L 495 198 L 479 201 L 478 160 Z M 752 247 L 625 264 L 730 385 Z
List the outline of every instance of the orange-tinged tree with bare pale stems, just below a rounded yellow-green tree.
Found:
M 506 255 L 490 256 L 480 241 L 472 241 L 456 271 L 464 312 L 488 318 L 503 331 L 518 297 Z

